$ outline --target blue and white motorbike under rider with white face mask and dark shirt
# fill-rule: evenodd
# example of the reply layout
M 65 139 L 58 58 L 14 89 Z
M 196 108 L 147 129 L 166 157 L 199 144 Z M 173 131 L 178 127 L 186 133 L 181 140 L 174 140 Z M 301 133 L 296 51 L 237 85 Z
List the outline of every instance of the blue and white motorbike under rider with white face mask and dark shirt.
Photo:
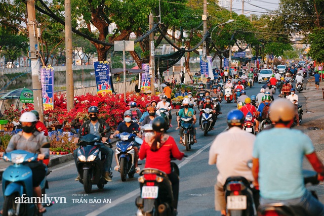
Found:
M 117 134 L 115 137 L 119 139 L 116 143 L 115 158 L 117 165 L 119 165 L 118 171 L 120 172 L 121 181 L 125 182 L 127 175 L 130 179 L 134 178 L 135 170 L 135 150 L 133 144 L 136 138 L 136 134 L 129 134 L 123 132 Z

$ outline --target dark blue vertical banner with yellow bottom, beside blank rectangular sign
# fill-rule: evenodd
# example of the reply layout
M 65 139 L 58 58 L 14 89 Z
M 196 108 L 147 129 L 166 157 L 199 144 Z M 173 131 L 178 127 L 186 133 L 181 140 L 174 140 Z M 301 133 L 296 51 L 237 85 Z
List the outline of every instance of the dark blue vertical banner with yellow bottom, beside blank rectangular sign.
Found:
M 106 95 L 112 93 L 111 73 L 108 61 L 94 62 L 97 82 L 97 94 Z

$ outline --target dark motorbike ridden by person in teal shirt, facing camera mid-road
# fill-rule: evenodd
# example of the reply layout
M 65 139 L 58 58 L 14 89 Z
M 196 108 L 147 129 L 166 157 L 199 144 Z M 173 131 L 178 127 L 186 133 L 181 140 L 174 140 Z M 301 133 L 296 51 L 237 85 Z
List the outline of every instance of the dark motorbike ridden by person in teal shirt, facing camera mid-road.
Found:
M 191 145 L 194 144 L 193 118 L 192 117 L 180 118 L 180 126 L 183 129 L 182 145 L 186 147 L 186 151 L 189 151 L 191 149 Z

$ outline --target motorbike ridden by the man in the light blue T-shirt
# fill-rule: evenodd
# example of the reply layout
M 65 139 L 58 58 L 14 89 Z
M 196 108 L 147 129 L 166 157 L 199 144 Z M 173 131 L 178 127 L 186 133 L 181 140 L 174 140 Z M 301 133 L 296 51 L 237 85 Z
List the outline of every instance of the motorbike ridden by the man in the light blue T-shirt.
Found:
M 303 170 L 304 184 L 318 185 L 317 173 L 312 170 Z M 312 195 L 318 199 L 315 191 L 311 191 Z M 284 202 L 269 203 L 260 205 L 258 208 L 258 215 L 260 216 L 307 216 L 304 208 L 299 206 L 291 206 Z

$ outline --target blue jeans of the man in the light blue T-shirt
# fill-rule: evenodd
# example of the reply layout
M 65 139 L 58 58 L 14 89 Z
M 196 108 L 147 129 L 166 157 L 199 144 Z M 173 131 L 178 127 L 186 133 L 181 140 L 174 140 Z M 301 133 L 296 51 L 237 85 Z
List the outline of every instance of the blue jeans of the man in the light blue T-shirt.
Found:
M 284 202 L 289 205 L 297 205 L 304 208 L 309 216 L 323 216 L 324 215 L 324 205 L 319 202 L 315 197 L 312 196 L 311 192 L 306 191 L 302 197 L 288 200 L 273 200 L 264 199 L 261 197 L 261 204 Z

